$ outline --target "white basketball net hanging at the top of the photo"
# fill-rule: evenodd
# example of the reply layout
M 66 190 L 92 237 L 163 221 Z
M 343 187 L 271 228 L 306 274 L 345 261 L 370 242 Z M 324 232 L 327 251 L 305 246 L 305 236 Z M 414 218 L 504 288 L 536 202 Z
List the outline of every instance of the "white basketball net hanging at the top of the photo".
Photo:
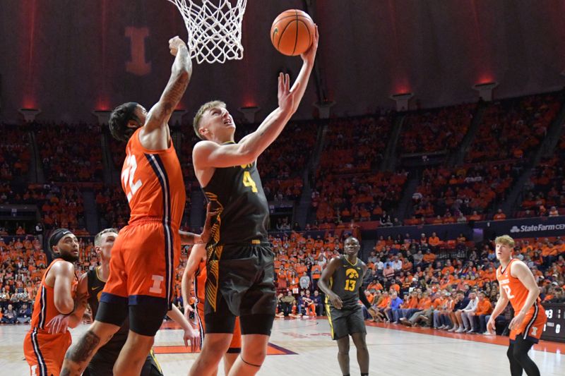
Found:
M 247 0 L 167 1 L 181 12 L 189 32 L 190 56 L 197 63 L 243 58 L 242 20 Z

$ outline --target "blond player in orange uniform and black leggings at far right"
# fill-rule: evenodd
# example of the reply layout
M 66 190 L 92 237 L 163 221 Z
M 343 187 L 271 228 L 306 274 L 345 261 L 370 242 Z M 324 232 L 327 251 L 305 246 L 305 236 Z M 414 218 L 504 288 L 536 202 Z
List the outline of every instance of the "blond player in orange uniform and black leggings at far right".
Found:
M 508 235 L 494 239 L 496 258 L 500 266 L 496 269 L 499 281 L 500 298 L 492 312 L 487 330 L 494 332 L 495 319 L 502 313 L 510 301 L 514 308 L 514 318 L 510 322 L 510 345 L 506 356 L 510 360 L 510 374 L 522 375 L 524 370 L 528 376 L 539 376 L 540 370 L 528 356 L 533 344 L 537 344 L 542 336 L 543 326 L 547 322 L 545 309 L 542 307 L 540 288 L 527 265 L 512 258 L 514 239 Z

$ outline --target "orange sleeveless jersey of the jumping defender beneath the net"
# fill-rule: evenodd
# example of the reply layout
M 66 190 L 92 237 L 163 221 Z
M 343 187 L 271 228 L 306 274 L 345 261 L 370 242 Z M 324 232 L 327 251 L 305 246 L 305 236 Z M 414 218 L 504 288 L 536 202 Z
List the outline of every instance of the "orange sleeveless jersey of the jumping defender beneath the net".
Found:
M 141 128 L 131 135 L 121 169 L 121 188 L 129 202 L 129 224 L 140 219 L 162 219 L 179 229 L 186 192 L 177 152 L 148 150 L 139 141 Z

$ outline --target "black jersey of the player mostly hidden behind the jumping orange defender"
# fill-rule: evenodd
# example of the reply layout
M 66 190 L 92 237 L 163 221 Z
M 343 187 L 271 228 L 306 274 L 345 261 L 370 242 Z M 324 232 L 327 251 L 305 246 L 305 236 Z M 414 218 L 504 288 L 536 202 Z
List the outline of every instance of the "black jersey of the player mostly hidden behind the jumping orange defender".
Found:
M 101 281 L 98 278 L 98 269 L 90 269 L 87 272 L 88 281 L 88 305 L 90 305 L 90 310 L 93 311 L 93 318 L 96 317 L 98 312 L 98 304 L 100 302 L 100 295 L 106 282 Z M 119 328 L 118 332 L 112 336 L 112 339 L 108 341 L 107 344 L 102 346 L 93 357 L 93 361 L 102 362 L 113 362 L 117 359 L 121 348 L 124 347 L 126 339 L 128 338 L 129 332 L 129 320 L 126 318 L 126 322 Z

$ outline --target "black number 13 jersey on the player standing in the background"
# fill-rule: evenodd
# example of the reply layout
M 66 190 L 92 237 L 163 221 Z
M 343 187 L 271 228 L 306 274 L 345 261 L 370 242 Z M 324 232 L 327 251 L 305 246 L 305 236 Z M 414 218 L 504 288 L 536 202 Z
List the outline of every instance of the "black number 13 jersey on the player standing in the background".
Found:
M 344 255 L 340 255 L 340 266 L 333 272 L 330 288 L 343 302 L 343 308 L 355 308 L 359 305 L 359 286 L 363 282 L 364 262 L 359 260 L 352 264 Z M 331 301 L 326 296 L 326 303 Z

